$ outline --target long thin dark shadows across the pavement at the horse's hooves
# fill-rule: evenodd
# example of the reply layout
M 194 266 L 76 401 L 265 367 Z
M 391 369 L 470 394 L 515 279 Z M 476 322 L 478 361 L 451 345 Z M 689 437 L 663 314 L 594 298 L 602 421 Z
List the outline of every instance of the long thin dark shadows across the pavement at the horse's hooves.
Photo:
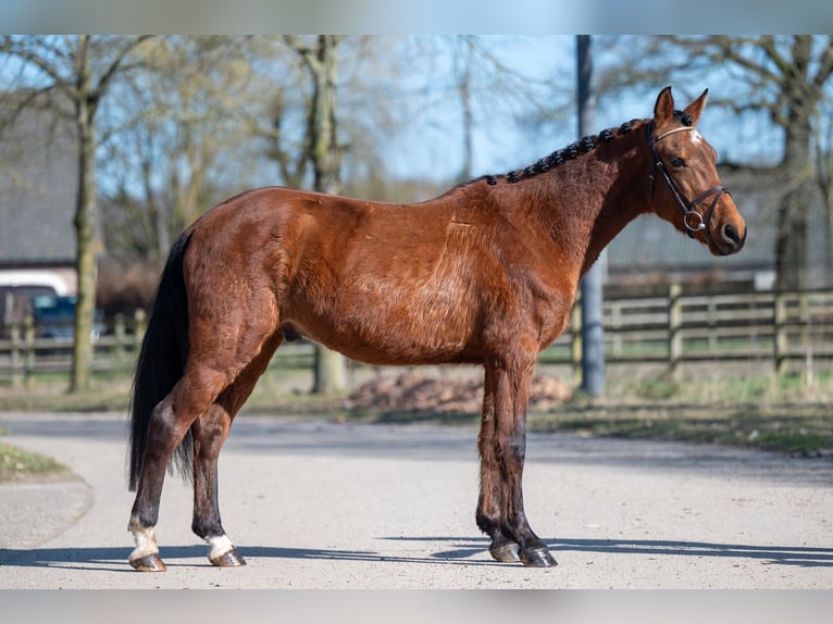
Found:
M 327 561 L 370 561 L 413 564 L 459 564 L 459 565 L 517 565 L 494 561 L 488 556 L 486 538 L 456 537 L 384 537 L 390 541 L 447 542 L 448 548 L 424 556 L 384 553 L 370 550 L 337 550 L 314 548 L 279 548 L 269 546 L 244 546 L 239 549 L 248 559 L 298 559 Z M 581 552 L 586 554 L 607 553 L 651 557 L 714 557 L 753 559 L 769 565 L 796 565 L 800 567 L 833 567 L 833 548 L 805 546 L 750 546 L 742 544 L 713 544 L 706 541 L 677 541 L 652 539 L 550 539 L 550 550 L 558 552 Z M 0 566 L 9 567 L 71 567 L 73 570 L 107 570 L 132 572 L 126 564 L 129 548 L 34 548 L 0 549 Z M 169 567 L 206 566 L 206 546 L 169 546 L 162 557 Z

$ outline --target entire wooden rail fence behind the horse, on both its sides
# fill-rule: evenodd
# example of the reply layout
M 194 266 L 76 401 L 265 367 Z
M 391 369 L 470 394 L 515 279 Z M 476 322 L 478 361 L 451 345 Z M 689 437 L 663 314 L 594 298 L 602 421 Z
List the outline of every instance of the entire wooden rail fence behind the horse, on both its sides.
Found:
M 659 363 L 674 372 L 683 363 L 753 362 L 778 373 L 791 365 L 833 361 L 833 289 L 800 292 L 686 295 L 672 285 L 664 296 L 605 301 L 606 362 Z M 96 341 L 96 370 L 132 370 L 145 319 L 116 317 Z M 39 338 L 29 321 L 0 339 L 0 382 L 20 386 L 35 373 L 67 373 L 72 345 Z M 542 352 L 540 361 L 581 370 L 581 301 L 570 329 Z M 312 366 L 308 342 L 278 349 L 272 366 Z M 577 378 L 577 377 L 576 377 Z

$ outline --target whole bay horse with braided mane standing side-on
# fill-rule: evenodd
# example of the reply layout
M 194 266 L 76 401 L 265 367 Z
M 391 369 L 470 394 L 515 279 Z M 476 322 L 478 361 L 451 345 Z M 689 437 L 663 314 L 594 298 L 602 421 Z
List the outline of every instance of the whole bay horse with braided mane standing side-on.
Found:
M 420 203 L 272 187 L 203 214 L 167 258 L 136 367 L 130 565 L 165 569 L 154 527 L 169 465 L 192 478 L 191 528 L 211 563 L 245 564 L 221 524 L 217 455 L 273 353 L 298 335 L 369 364 L 483 365 L 476 524 L 496 560 L 556 565 L 521 486 L 536 358 L 567 327 L 582 275 L 637 215 L 714 255 L 744 246 L 696 129 L 707 95 L 679 111 L 667 87 L 652 118 Z

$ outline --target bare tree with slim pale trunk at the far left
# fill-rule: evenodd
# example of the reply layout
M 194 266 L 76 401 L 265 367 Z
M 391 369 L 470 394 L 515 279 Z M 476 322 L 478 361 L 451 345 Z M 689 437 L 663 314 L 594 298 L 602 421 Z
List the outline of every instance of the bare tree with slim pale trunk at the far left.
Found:
M 137 67 L 132 54 L 148 39 L 139 37 L 3 36 L 0 54 L 17 60 L 18 88 L 33 93 L 51 92 L 52 111 L 66 118 L 77 138 L 78 190 L 75 203 L 76 271 L 78 292 L 75 312 L 75 345 L 70 390 L 89 386 L 92 369 L 94 311 L 96 305 L 96 257 L 100 241 L 96 233 L 96 149 L 100 137 L 98 113 L 114 79 Z M 64 105 L 67 102 L 69 105 Z

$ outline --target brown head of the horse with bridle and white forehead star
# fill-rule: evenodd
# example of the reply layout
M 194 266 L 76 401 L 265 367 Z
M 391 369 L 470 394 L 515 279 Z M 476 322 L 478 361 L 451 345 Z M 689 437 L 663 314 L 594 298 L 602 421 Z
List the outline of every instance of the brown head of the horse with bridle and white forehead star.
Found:
M 708 89 L 676 111 L 671 87 L 659 93 L 648 124 L 649 192 L 659 216 L 707 245 L 714 255 L 729 255 L 743 248 L 746 223 L 720 182 L 717 152 L 697 132 L 707 96 Z

